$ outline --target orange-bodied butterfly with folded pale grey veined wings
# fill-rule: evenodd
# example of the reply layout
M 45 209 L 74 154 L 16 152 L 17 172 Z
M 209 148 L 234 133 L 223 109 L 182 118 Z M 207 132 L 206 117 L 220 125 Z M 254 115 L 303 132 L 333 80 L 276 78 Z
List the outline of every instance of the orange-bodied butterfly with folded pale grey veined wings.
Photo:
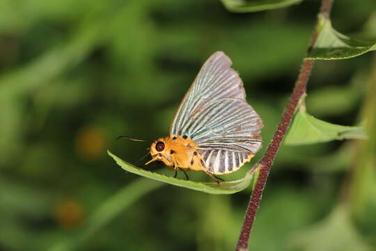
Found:
M 263 121 L 246 102 L 242 79 L 224 52 L 203 64 L 185 94 L 170 126 L 170 134 L 150 146 L 150 162 L 170 169 L 215 175 L 240 169 L 260 149 Z M 187 174 L 186 174 L 187 176 Z M 188 176 L 187 176 L 188 178 Z

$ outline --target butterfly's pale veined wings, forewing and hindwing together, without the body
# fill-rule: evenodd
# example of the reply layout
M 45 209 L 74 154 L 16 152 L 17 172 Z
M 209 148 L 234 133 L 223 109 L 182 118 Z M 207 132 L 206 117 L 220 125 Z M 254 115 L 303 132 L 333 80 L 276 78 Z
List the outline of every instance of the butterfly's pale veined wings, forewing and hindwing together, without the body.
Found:
M 224 52 L 207 59 L 170 128 L 170 135 L 187 135 L 198 144 L 213 174 L 239 169 L 261 146 L 263 123 L 246 103 L 242 79 L 231 65 Z

